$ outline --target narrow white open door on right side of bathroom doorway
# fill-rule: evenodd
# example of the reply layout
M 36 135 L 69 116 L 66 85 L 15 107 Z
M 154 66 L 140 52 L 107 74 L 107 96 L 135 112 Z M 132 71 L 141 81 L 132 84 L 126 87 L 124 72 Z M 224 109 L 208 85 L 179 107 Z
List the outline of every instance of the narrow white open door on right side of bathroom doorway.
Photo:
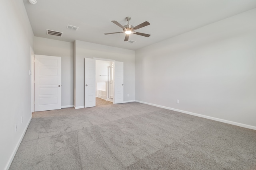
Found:
M 124 103 L 124 62 L 115 61 L 114 104 Z

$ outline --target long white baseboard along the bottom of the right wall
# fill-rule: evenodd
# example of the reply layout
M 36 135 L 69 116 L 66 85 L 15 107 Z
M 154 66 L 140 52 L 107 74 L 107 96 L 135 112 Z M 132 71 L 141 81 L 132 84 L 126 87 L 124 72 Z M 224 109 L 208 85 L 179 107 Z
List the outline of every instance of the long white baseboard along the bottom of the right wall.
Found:
M 151 104 L 151 103 L 142 102 L 142 101 L 138 101 L 138 100 L 135 100 L 135 102 L 139 102 L 139 103 L 143 103 L 143 104 L 148 104 L 148 105 L 151 105 L 151 106 L 156 106 L 156 107 L 160 107 L 160 108 L 164 108 L 164 109 L 168 109 L 168 110 L 178 111 L 178 112 L 186 113 L 186 114 L 189 114 L 189 115 L 203 117 L 203 118 L 206 118 L 206 119 L 211 119 L 211 120 L 220 121 L 220 122 L 223 122 L 223 123 L 228 123 L 228 124 L 231 124 L 231 125 L 236 125 L 236 126 L 240 126 L 240 127 L 245 127 L 245 128 L 248 128 L 248 129 L 256 130 L 256 126 L 252 126 L 252 125 L 246 125 L 246 124 L 243 124 L 243 123 L 238 123 L 238 122 L 229 121 L 229 120 L 225 120 L 225 119 L 219 119 L 219 118 L 216 118 L 216 117 L 201 115 L 201 114 L 193 113 L 193 112 L 190 112 L 190 111 L 174 109 L 174 108 L 171 108 L 171 107 L 160 106 L 160 105 L 157 105 L 157 104 Z

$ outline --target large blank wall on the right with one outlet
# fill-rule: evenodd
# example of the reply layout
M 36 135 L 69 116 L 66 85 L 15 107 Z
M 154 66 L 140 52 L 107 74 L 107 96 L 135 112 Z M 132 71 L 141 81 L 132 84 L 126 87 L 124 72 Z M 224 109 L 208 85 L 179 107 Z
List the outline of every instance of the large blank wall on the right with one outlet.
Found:
M 136 100 L 255 129 L 255 17 L 250 10 L 137 50 Z

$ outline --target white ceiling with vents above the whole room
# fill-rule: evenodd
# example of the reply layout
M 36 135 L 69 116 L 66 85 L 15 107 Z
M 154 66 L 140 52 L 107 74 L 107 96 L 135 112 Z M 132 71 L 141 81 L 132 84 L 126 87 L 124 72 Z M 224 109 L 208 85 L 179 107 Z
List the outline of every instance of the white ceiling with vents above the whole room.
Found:
M 256 8 L 256 0 L 37 0 L 33 5 L 23 0 L 34 35 L 48 39 L 73 42 L 87 41 L 102 45 L 136 50 L 193 29 L 223 20 Z M 126 25 L 125 18 L 136 26 L 144 21 L 150 25 L 138 32 L 150 37 L 119 32 L 111 20 Z M 78 31 L 67 25 L 79 27 Z M 46 35 L 46 29 L 63 32 L 62 37 Z

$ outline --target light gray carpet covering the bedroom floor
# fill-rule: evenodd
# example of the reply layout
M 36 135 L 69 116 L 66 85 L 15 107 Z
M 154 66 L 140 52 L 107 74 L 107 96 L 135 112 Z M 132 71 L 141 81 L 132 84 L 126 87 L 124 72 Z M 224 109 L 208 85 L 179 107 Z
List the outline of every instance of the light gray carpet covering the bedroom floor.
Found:
M 256 131 L 136 102 L 32 115 L 10 170 L 255 170 Z

